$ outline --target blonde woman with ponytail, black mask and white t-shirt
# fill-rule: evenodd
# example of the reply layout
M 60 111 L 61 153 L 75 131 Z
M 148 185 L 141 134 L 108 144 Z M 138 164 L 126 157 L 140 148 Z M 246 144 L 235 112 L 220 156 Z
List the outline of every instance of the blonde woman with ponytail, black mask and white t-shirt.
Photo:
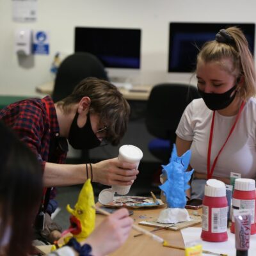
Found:
M 226 184 L 230 172 L 256 176 L 255 67 L 248 42 L 236 27 L 221 29 L 197 56 L 196 99 L 177 128 L 177 152 L 191 149 L 191 198 L 202 198 L 205 180 Z

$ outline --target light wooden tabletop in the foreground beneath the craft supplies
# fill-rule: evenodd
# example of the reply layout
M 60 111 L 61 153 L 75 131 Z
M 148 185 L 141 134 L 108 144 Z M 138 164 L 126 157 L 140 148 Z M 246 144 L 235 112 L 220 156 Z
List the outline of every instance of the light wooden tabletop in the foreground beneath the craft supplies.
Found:
M 100 205 L 99 203 L 97 205 Z M 134 214 L 131 215 L 131 218 L 134 219 L 134 224 L 138 225 L 141 220 L 150 220 L 151 218 L 157 218 L 159 216 L 159 212 L 161 212 L 163 208 L 157 209 L 133 209 Z M 143 216 L 143 219 L 141 218 Z M 96 214 L 96 226 L 104 220 L 106 216 Z M 153 230 L 153 227 L 140 226 L 149 231 Z M 197 225 L 195 227 L 200 227 Z M 177 250 L 172 248 L 164 247 L 157 241 L 154 241 L 151 237 L 148 236 L 139 236 L 134 237 L 134 235 L 138 234 L 135 230 L 132 230 L 129 238 L 125 242 L 123 246 L 121 246 L 118 250 L 113 253 L 110 253 L 111 256 L 153 256 L 153 255 L 161 255 L 161 256 L 184 256 L 183 250 Z M 182 235 L 180 231 L 172 231 L 172 230 L 159 230 L 154 232 L 157 236 L 163 237 L 169 244 L 173 244 L 176 246 L 184 247 L 184 242 L 182 239 Z M 36 246 L 40 249 L 41 252 L 49 253 L 51 250 L 51 246 Z

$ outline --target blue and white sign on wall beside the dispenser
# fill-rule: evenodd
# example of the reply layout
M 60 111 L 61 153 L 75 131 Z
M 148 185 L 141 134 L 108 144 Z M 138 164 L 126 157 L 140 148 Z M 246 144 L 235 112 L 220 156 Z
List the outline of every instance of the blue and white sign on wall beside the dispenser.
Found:
M 35 31 L 33 34 L 33 53 L 49 54 L 49 33 L 47 31 Z

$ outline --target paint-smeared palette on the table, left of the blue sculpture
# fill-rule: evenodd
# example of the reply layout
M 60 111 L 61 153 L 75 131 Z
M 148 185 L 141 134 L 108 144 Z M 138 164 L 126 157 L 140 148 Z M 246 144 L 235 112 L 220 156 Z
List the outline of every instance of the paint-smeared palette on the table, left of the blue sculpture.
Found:
M 165 204 L 162 200 L 157 199 L 154 202 L 152 197 L 146 196 L 114 196 L 109 204 L 104 204 L 108 207 L 130 207 L 130 208 L 148 208 L 148 207 L 161 207 Z

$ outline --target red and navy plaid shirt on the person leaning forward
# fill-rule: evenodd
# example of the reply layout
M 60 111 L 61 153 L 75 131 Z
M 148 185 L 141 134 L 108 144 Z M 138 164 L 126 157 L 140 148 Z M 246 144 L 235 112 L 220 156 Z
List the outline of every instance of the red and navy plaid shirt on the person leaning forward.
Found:
M 49 116 L 41 99 L 20 100 L 0 111 L 0 119 L 35 152 L 43 170 L 49 157 L 50 141 L 56 134 L 60 134 L 54 102 L 49 96 L 44 97 L 44 100 L 49 106 Z M 63 152 L 55 163 L 65 163 L 66 158 L 67 152 Z

